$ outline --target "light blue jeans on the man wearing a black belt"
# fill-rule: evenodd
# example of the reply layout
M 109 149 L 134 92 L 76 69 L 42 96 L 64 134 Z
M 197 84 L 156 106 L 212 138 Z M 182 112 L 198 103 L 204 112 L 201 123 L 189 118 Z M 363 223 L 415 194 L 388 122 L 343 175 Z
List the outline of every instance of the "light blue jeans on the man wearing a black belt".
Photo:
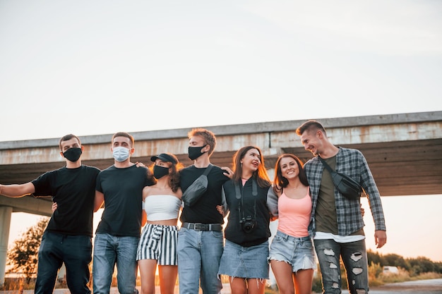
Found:
M 203 294 L 218 294 L 222 283 L 218 267 L 224 247 L 222 231 L 178 231 L 178 279 L 180 294 L 199 291 L 200 277 Z

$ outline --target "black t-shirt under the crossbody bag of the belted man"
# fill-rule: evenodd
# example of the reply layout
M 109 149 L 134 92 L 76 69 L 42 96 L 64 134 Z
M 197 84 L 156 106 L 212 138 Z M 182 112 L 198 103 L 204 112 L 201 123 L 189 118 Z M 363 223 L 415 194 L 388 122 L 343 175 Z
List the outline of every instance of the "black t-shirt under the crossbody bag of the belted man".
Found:
M 184 192 L 198 176 L 201 176 L 205 168 L 198 169 L 194 165 L 188 166 L 180 171 L 180 187 Z M 222 214 L 216 206 L 221 205 L 222 184 L 229 178 L 219 166 L 213 166 L 208 174 L 208 188 L 198 201 L 191 207 L 184 206 L 181 212 L 182 223 L 224 223 Z

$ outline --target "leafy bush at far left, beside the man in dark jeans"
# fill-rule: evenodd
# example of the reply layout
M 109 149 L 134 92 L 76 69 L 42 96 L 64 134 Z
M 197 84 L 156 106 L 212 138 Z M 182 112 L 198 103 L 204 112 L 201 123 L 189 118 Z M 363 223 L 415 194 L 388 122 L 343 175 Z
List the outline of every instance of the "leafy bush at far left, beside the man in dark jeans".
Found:
M 25 274 L 26 283 L 37 274 L 38 250 L 48 222 L 49 217 L 42 217 L 21 238 L 15 240 L 13 247 L 8 250 L 7 264 L 11 265 L 11 271 Z

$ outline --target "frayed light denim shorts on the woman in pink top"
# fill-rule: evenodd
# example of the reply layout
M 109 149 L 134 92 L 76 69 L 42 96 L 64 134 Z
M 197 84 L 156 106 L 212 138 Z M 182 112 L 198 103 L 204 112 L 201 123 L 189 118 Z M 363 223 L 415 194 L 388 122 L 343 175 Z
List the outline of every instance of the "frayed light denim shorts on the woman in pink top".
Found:
M 268 260 L 287 262 L 294 273 L 300 269 L 316 269 L 315 251 L 309 236 L 297 238 L 277 231 L 270 245 Z

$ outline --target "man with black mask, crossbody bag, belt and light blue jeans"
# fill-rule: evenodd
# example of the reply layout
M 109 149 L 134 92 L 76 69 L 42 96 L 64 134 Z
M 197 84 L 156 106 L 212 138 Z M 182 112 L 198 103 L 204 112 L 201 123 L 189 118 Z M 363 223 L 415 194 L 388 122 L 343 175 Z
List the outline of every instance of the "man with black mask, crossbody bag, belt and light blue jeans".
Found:
M 196 128 L 189 136 L 189 158 L 194 164 L 181 169 L 180 187 L 183 193 L 209 166 L 209 157 L 216 145 L 215 135 L 210 130 Z M 179 293 L 198 293 L 200 281 L 203 294 L 217 294 L 222 289 L 218 278 L 218 267 L 224 240 L 224 219 L 216 207 L 221 205 L 222 184 L 229 180 L 232 171 L 213 166 L 208 173 L 208 188 L 192 206 L 184 206 L 182 223 L 178 232 L 178 276 Z

